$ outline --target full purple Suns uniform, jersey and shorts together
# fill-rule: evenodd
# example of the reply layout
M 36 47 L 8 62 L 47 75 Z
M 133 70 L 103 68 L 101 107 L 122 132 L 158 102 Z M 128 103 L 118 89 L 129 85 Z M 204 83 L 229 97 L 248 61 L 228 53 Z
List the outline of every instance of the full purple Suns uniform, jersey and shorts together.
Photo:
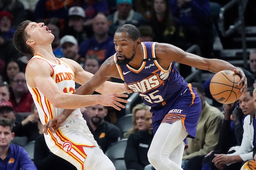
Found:
M 129 65 L 117 65 L 121 78 L 128 87 L 140 94 L 143 102 L 151 106 L 154 133 L 161 122 L 182 120 L 189 137 L 195 137 L 201 114 L 201 100 L 191 84 L 184 81 L 175 68 L 163 69 L 156 60 L 156 42 L 142 42 L 143 63 L 138 70 Z M 117 60 L 116 54 L 114 60 Z

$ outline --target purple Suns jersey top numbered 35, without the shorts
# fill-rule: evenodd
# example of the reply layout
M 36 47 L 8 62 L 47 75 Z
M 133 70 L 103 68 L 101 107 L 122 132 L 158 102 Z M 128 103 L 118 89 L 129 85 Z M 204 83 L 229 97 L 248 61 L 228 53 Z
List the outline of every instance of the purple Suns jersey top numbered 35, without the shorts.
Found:
M 175 102 L 173 99 L 177 97 L 177 92 L 188 83 L 180 76 L 174 62 L 170 64 L 168 70 L 158 64 L 154 45 L 155 42 L 142 42 L 144 60 L 138 70 L 129 65 L 117 65 L 117 68 L 128 87 L 140 93 L 146 105 L 160 109 L 166 103 Z

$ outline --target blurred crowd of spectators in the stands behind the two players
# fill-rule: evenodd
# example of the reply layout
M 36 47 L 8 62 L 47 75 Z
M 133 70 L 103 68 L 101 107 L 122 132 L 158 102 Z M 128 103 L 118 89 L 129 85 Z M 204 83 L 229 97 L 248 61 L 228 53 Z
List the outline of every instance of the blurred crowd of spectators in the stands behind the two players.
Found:
M 23 20 L 45 23 L 55 36 L 52 42 L 55 56 L 73 59 L 85 71 L 95 74 L 102 62 L 115 53 L 114 32 L 127 23 L 139 28 L 143 41 L 170 43 L 183 50 L 197 44 L 202 57 L 218 58 L 213 56 L 213 43 L 219 36 L 218 13 L 228 2 L 229 0 L 1 0 L 0 119 L 4 121 L 0 127 L 9 126 L 4 124 L 5 119 L 11 121 L 13 127 L 10 129 L 15 135 L 10 136 L 9 143 L 25 147 L 35 142 L 34 157 L 31 158 L 33 162 L 28 163 L 35 164 L 32 169 L 75 169 L 69 162 L 52 154 L 44 142 L 43 125 L 25 78 L 26 64 L 32 56 L 23 56 L 12 45 L 15 29 Z M 243 94 L 236 103 L 221 105 L 216 102 L 209 94 L 210 79 L 202 84 L 192 83 L 201 97 L 203 108 L 196 138 L 189 139 L 189 148 L 184 152 L 184 170 L 240 170 L 245 161 L 253 159 L 256 50 L 250 52 L 249 63 L 250 68 L 244 71 L 248 79 L 247 94 Z M 186 77 L 188 68 L 180 66 L 180 69 L 183 69 L 180 71 L 181 75 Z M 121 82 L 118 79 L 110 81 Z M 127 170 L 154 170 L 147 159 L 153 136 L 152 113 L 141 102 L 137 101 L 132 108 L 129 122 L 131 129 L 127 131 L 122 131 L 116 125 L 118 119 L 125 116 L 124 111 L 118 112 L 101 105 L 81 108 L 84 119 L 103 152 L 120 139 L 127 139 L 127 147 L 123 148 Z M 0 137 L 1 132 L 0 128 Z M 226 160 L 224 164 L 214 163 L 219 156 Z M 235 156 L 239 156 L 239 159 L 235 159 Z M 0 169 L 4 160 L 0 155 Z M 57 165 L 56 161 L 60 163 Z

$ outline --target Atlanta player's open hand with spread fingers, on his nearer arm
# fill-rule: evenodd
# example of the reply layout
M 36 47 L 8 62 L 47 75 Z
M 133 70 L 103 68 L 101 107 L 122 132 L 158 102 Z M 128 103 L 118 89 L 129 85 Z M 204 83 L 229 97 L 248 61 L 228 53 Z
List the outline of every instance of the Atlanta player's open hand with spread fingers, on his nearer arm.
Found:
M 99 104 L 102 106 L 112 106 L 116 110 L 121 111 L 121 108 L 125 108 L 125 105 L 123 105 L 122 103 L 128 103 L 126 99 L 122 99 L 123 97 L 128 97 L 128 95 L 119 93 L 103 94 L 99 97 Z

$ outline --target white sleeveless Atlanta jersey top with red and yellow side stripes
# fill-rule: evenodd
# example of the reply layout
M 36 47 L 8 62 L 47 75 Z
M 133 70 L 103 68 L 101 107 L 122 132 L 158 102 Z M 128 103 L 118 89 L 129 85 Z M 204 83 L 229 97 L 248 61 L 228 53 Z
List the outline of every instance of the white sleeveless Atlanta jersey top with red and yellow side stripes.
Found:
M 75 93 L 74 71 L 67 63 L 65 63 L 61 59 L 56 58 L 59 62 L 58 64 L 56 64 L 39 55 L 35 55 L 32 59 L 35 58 L 43 59 L 48 62 L 49 66 L 52 68 L 51 77 L 58 85 L 59 91 L 62 91 L 63 93 Z M 29 61 L 31 61 L 32 59 L 30 59 Z M 62 108 L 55 108 L 37 87 L 31 88 L 29 85 L 27 86 L 29 88 L 29 92 L 32 94 L 33 100 L 38 109 L 40 120 L 43 125 L 48 122 L 49 119 L 58 116 L 59 114 L 61 114 L 62 111 L 64 111 L 64 109 Z M 82 116 L 80 109 L 76 109 L 75 111 L 73 111 L 68 119 L 72 119 L 74 116 Z

